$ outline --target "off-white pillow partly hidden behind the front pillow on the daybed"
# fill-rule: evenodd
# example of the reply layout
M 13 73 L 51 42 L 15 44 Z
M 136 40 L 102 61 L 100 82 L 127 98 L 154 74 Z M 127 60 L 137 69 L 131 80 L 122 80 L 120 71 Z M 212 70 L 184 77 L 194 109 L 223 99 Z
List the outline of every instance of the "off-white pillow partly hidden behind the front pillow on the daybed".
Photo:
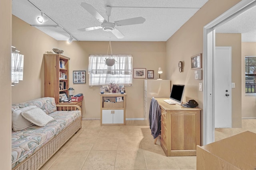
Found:
M 14 111 L 12 112 L 12 129 L 14 131 L 20 131 L 33 125 L 33 123 L 24 119 L 20 114 L 22 111 L 26 111 L 32 108 L 36 108 L 36 106 L 28 106 L 14 109 Z

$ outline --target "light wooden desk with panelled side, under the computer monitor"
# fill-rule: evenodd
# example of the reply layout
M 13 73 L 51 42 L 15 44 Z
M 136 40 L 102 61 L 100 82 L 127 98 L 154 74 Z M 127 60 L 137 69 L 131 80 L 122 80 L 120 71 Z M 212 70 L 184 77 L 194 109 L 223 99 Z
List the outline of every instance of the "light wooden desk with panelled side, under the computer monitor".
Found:
M 196 156 L 201 145 L 200 108 L 169 105 L 167 98 L 155 98 L 161 107 L 161 147 L 166 156 Z

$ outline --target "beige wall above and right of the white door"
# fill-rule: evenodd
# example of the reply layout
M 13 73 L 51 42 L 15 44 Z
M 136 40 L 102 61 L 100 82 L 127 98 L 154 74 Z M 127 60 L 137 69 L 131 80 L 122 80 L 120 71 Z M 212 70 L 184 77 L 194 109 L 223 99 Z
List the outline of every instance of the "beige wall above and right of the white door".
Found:
M 216 33 L 215 45 L 232 48 L 232 127 L 242 126 L 242 96 L 241 96 L 241 34 Z

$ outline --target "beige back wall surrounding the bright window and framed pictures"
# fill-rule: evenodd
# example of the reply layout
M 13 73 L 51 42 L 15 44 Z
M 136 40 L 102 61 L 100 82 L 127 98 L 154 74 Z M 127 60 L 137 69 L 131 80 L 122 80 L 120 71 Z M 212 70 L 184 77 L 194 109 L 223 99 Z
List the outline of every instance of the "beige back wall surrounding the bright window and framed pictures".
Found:
M 64 55 L 70 57 L 70 75 L 73 70 L 86 70 L 88 72 L 89 55 L 106 55 L 108 51 L 108 41 L 73 41 L 68 44 L 66 41 L 58 41 L 59 49 L 64 50 Z M 146 68 L 154 70 L 154 78 L 158 78 L 158 67 L 162 67 L 166 77 L 166 42 L 117 42 L 112 41 L 113 54 L 128 54 L 133 57 L 134 68 Z M 126 118 L 144 117 L 144 80 L 134 78 L 133 85 L 126 89 Z M 75 94 L 83 93 L 82 117 L 86 119 L 100 118 L 100 87 L 88 86 L 88 74 L 86 74 L 86 84 L 73 84 L 70 79 L 70 87 L 75 89 Z

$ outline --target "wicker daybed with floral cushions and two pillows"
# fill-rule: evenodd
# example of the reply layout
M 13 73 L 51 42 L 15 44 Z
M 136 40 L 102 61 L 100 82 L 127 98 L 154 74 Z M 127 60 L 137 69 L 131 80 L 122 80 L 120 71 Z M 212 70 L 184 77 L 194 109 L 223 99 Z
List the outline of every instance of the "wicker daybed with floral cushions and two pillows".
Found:
M 50 122 L 34 122 L 39 113 Z M 81 127 L 81 108 L 76 105 L 56 105 L 50 97 L 12 105 L 12 170 L 39 169 Z

